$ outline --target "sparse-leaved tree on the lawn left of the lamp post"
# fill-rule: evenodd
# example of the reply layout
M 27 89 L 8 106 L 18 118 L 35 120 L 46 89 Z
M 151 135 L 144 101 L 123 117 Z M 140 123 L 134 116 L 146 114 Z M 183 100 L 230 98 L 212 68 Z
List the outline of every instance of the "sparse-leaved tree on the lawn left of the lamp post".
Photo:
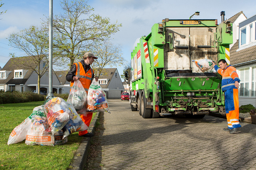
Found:
M 20 60 L 13 60 L 15 66 L 30 69 L 38 75 L 38 94 L 40 94 L 40 78 L 48 70 L 49 67 L 49 30 L 43 26 L 30 26 L 28 29 L 21 30 L 19 33 L 9 35 L 9 44 L 11 47 L 25 52 L 28 56 L 20 57 Z M 16 56 L 14 53 L 10 54 Z M 54 63 L 54 60 L 53 60 Z

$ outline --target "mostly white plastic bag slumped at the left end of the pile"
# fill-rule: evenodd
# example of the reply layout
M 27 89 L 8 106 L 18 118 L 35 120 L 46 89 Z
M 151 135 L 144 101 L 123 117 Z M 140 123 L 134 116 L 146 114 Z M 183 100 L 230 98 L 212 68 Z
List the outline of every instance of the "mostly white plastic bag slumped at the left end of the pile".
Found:
M 27 132 L 30 130 L 30 125 L 32 118 L 39 117 L 46 120 L 46 115 L 44 114 L 44 106 L 37 106 L 33 109 L 32 114 L 28 116 L 20 125 L 16 126 L 9 136 L 7 144 L 15 144 L 26 139 Z

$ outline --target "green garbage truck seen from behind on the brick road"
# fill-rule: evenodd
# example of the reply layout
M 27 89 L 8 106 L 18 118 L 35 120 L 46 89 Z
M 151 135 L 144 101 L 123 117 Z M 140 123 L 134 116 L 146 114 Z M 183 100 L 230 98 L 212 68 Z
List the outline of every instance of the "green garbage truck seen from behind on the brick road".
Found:
M 192 62 L 225 59 L 229 64 L 232 23 L 224 15 L 221 11 L 220 24 L 217 19 L 165 18 L 140 38 L 131 53 L 132 111 L 139 110 L 143 118 L 225 113 L 221 76 L 213 69 L 202 72 Z

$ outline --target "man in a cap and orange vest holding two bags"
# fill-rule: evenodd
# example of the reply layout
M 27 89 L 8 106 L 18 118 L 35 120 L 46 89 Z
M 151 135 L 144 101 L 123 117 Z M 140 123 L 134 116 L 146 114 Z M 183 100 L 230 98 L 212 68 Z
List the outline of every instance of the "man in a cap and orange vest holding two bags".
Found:
M 94 71 L 91 68 L 91 64 L 94 59 L 97 59 L 91 52 L 86 52 L 84 54 L 84 60 L 81 60 L 78 63 L 72 65 L 71 69 L 68 71 L 66 75 L 66 80 L 71 82 L 70 89 L 74 84 L 74 81 L 80 80 L 86 92 L 92 83 L 92 79 L 94 78 Z M 98 81 L 98 77 L 95 78 Z M 89 127 L 90 122 L 92 120 L 92 112 L 89 112 L 86 116 L 81 115 L 83 122 Z M 93 133 L 89 133 L 87 130 L 79 131 L 78 135 L 80 137 L 92 137 Z

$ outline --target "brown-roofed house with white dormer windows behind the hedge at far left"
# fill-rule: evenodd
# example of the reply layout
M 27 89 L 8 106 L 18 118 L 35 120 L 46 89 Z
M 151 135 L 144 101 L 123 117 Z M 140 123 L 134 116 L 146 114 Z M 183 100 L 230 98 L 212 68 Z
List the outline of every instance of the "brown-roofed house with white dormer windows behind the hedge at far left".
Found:
M 36 90 L 38 92 L 38 75 L 32 69 L 24 69 L 20 66 L 16 66 L 14 63 L 24 62 L 34 68 L 37 67 L 36 63 L 31 61 L 29 56 L 27 57 L 15 57 L 4 65 L 0 71 L 0 90 L 4 91 L 30 91 Z M 40 68 L 43 68 L 45 62 L 40 64 Z M 40 78 L 40 90 L 44 90 L 49 93 L 49 71 L 47 70 Z M 56 93 L 69 93 L 69 87 L 61 85 L 54 71 L 52 71 L 52 92 Z

